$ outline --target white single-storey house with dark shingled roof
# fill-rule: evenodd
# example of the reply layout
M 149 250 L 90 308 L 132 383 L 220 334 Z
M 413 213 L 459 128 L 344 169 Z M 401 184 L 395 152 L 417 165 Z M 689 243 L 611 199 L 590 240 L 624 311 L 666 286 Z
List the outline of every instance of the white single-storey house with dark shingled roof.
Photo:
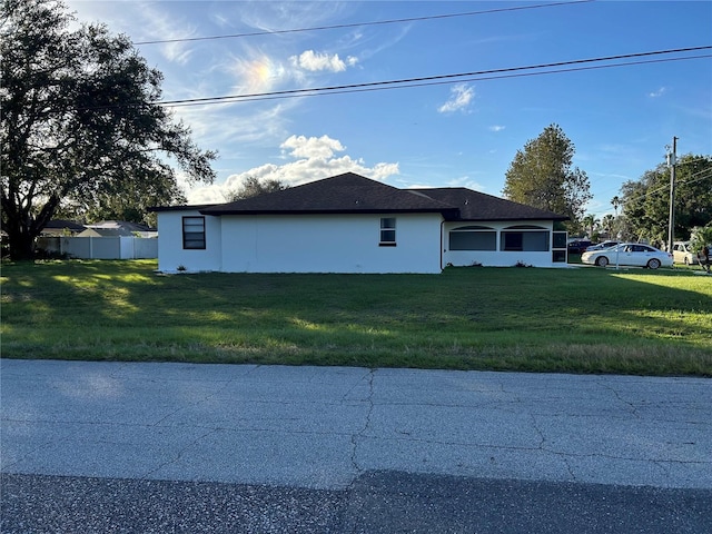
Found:
M 567 217 L 466 188 L 352 172 L 228 204 L 154 208 L 164 273 L 441 273 L 566 265 Z

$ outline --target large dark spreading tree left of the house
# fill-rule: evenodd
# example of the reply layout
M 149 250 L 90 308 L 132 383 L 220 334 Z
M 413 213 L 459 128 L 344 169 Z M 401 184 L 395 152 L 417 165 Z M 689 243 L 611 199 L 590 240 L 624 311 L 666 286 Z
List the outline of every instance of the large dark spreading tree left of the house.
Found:
M 70 29 L 61 0 L 2 0 L 1 207 L 10 256 L 30 258 L 60 208 L 179 200 L 177 165 L 211 182 L 216 154 L 161 107 L 162 75 L 126 36 Z

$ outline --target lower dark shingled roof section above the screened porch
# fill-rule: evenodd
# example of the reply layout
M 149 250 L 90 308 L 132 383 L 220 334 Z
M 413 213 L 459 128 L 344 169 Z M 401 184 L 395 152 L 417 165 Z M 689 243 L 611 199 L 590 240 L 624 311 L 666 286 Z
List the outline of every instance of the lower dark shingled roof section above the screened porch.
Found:
M 459 210 L 454 220 L 566 220 L 565 215 L 533 208 L 504 198 L 493 197 L 484 192 L 473 191 L 464 187 L 444 187 L 436 189 L 417 189 L 417 191 L 437 199 Z

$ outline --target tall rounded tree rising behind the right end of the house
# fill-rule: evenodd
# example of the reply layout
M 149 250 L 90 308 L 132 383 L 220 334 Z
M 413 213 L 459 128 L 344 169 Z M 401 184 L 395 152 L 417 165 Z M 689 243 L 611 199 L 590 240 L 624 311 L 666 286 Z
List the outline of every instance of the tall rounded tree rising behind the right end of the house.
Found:
M 571 217 L 576 226 L 593 198 L 589 178 L 572 168 L 574 145 L 557 125 L 544 128 L 517 150 L 506 172 L 503 194 L 510 200 Z

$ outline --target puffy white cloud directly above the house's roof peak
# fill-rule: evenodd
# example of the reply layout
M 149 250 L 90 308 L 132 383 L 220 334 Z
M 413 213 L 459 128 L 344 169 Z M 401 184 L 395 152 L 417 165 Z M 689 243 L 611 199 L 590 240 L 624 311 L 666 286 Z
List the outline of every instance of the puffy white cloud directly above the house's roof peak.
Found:
M 344 172 L 356 172 L 380 181 L 399 174 L 397 162 L 378 162 L 368 167 L 360 158 L 355 159 L 348 155 L 335 157 L 336 152 L 343 152 L 346 148 L 339 140 L 328 136 L 290 136 L 280 145 L 280 148 L 283 155 L 298 159 L 284 165 L 261 165 L 230 175 L 224 184 L 188 190 L 186 194 L 188 204 L 225 202 L 227 194 L 236 189 L 248 176 L 260 180 L 276 179 L 289 186 L 297 186 Z

